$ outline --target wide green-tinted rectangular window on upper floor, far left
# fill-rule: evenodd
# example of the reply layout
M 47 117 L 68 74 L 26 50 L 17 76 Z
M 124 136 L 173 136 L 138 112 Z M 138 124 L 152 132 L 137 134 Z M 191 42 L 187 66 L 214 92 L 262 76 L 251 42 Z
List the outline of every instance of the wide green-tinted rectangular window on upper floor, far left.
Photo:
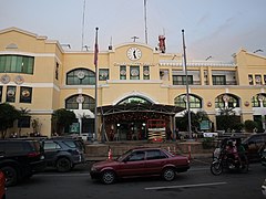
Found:
M 33 74 L 33 56 L 0 55 L 0 73 Z

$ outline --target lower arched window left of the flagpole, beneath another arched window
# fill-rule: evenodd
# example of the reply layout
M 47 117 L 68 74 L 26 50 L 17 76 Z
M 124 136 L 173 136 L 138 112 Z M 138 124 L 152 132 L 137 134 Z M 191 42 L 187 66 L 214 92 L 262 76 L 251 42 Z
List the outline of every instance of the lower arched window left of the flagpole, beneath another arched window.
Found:
M 79 107 L 79 104 L 81 106 Z M 65 108 L 66 109 L 90 109 L 94 113 L 95 108 L 95 100 L 88 95 L 72 95 L 65 100 Z

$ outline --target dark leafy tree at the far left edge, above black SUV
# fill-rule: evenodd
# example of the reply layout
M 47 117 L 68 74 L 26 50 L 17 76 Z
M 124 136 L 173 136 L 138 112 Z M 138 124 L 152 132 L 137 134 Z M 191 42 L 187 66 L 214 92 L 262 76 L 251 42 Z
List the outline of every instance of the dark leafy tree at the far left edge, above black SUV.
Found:
M 8 103 L 0 104 L 0 132 L 2 138 L 6 138 L 8 128 L 11 128 L 13 122 L 19 117 L 20 112 L 14 106 Z

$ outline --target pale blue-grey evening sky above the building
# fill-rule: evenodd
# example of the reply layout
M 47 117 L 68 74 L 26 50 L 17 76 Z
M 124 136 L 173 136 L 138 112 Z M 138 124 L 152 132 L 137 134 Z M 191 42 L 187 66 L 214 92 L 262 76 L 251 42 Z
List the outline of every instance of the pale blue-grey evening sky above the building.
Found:
M 187 60 L 232 62 L 241 49 L 265 56 L 265 8 L 266 0 L 146 0 L 147 44 L 163 34 L 166 53 L 183 53 L 184 30 Z M 144 0 L 0 0 L 0 30 L 45 35 L 71 51 L 82 43 L 93 51 L 96 27 L 100 52 L 132 36 L 145 43 L 144 19 Z

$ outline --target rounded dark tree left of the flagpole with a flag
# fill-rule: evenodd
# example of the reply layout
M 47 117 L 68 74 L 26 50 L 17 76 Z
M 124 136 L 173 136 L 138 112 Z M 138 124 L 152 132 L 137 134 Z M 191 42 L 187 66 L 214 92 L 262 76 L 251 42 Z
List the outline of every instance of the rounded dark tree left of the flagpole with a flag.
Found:
M 75 114 L 65 108 L 57 109 L 52 115 L 52 124 L 58 135 L 61 135 L 64 132 L 64 127 L 71 125 L 73 122 L 75 122 Z

